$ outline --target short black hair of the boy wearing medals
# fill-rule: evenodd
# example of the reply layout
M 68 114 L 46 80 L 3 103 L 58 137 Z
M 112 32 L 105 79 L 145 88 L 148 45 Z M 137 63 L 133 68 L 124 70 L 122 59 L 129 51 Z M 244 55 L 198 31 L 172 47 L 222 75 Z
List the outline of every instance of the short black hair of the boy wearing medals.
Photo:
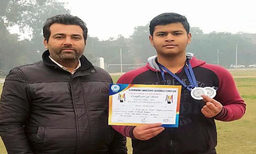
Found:
M 189 33 L 189 23 L 187 22 L 187 18 L 178 13 L 162 13 L 150 21 L 149 32 L 150 35 L 153 36 L 155 27 L 158 25 L 167 25 L 171 23 L 181 23 L 186 29 L 187 34 Z

